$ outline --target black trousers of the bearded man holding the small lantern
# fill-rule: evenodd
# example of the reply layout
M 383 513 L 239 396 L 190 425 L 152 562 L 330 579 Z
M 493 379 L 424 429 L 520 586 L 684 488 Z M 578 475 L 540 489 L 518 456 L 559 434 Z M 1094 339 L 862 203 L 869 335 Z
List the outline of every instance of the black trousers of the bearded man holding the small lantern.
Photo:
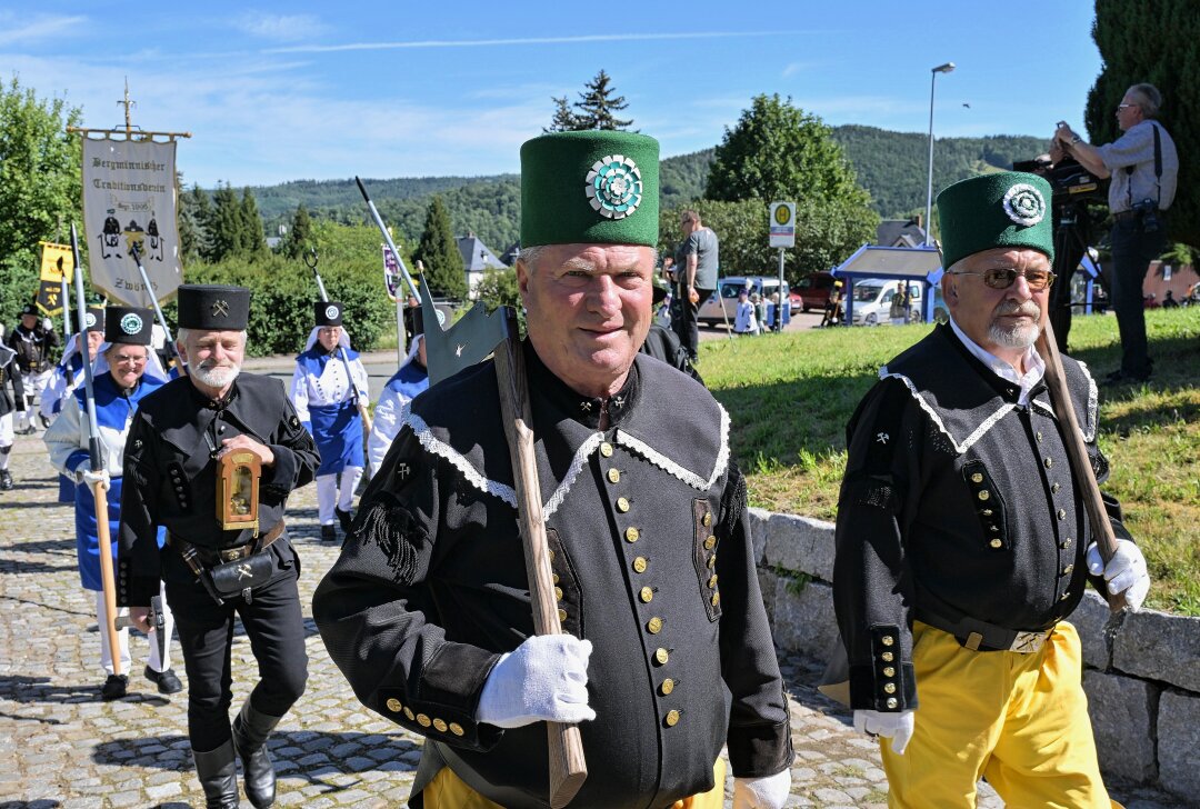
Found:
M 192 749 L 215 750 L 230 738 L 234 616 L 241 618 L 258 661 L 258 684 L 250 694 L 254 709 L 282 717 L 304 694 L 308 679 L 304 615 L 300 612 L 300 558 L 286 539 L 264 552 L 275 564 L 271 580 L 251 592 L 251 601 L 218 605 L 170 547 L 164 547 L 167 603 L 175 613 L 179 646 L 187 669 L 187 735 Z

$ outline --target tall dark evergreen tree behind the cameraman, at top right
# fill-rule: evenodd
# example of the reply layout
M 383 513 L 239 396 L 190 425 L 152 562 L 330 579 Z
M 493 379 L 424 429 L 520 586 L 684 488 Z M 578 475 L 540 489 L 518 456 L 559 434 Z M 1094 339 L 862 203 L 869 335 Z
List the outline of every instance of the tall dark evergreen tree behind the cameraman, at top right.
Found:
M 1096 0 L 1092 38 L 1104 67 L 1087 94 L 1088 140 L 1111 143 L 1121 136 L 1112 110 L 1130 85 L 1148 82 L 1158 88 L 1163 94 L 1158 120 L 1180 152 L 1178 190 L 1168 234 L 1200 246 L 1200 163 L 1194 158 L 1200 154 L 1200 85 L 1195 82 L 1200 76 L 1200 14 L 1195 1 Z

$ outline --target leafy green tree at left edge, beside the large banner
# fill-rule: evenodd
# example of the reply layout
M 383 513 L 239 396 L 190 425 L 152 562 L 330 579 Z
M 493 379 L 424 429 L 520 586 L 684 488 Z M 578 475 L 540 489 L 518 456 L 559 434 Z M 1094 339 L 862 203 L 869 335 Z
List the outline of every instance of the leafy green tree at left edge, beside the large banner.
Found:
M 65 240 L 78 220 L 82 145 L 67 127 L 80 120 L 62 98 L 0 83 L 0 322 L 37 292 L 37 242 Z

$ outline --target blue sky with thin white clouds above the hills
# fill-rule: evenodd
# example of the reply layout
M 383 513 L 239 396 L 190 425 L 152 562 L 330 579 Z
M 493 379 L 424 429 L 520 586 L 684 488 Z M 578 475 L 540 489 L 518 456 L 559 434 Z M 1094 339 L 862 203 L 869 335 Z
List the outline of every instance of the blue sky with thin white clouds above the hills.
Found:
M 686 8 L 686 11 L 680 11 Z M 516 172 L 520 144 L 605 68 L 664 156 L 720 142 L 750 98 L 827 124 L 935 134 L 1084 131 L 1100 70 L 1092 4 L 19 0 L 0 76 L 122 121 L 191 131 L 187 182 Z M 970 104 L 970 106 L 967 106 Z

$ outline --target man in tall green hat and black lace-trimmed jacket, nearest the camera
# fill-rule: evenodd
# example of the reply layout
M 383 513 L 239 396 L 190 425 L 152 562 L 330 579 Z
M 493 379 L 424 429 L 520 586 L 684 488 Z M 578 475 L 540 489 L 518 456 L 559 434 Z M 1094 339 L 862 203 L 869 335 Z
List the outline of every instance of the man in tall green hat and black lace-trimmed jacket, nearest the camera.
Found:
M 517 282 L 563 634 L 533 631 L 490 361 L 406 409 L 313 598 L 359 699 L 426 736 L 409 805 L 545 807 L 546 721 L 578 723 L 588 778 L 571 807 L 721 807 L 722 747 L 736 805 L 788 796 L 787 702 L 728 415 L 638 353 L 658 151 L 598 131 L 521 150 Z

